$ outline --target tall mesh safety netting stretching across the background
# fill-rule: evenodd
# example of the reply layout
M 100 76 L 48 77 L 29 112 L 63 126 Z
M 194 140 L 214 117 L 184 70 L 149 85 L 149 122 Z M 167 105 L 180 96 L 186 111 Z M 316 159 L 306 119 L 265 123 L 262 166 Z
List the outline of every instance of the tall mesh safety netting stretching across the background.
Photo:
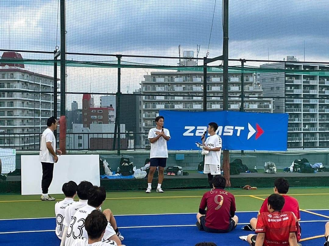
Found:
M 67 154 L 100 155 L 107 190 L 144 189 L 145 178 L 116 172 L 121 157 L 147 164 L 159 110 L 223 110 L 223 61 L 203 67 L 204 57 L 223 54 L 223 2 L 1 2 L 0 192 L 20 191 L 21 155 L 38 154 L 53 115 L 66 121 L 56 136 Z M 271 187 L 280 176 L 329 185 L 328 6 L 229 2 L 228 110 L 289 114 L 288 152 L 230 151 L 231 187 Z M 61 56 L 54 60 L 61 34 L 65 81 Z M 169 151 L 175 170 L 166 174 L 175 175 L 165 175 L 164 188 L 206 188 L 202 161 L 198 151 Z M 265 173 L 270 162 L 276 174 Z

